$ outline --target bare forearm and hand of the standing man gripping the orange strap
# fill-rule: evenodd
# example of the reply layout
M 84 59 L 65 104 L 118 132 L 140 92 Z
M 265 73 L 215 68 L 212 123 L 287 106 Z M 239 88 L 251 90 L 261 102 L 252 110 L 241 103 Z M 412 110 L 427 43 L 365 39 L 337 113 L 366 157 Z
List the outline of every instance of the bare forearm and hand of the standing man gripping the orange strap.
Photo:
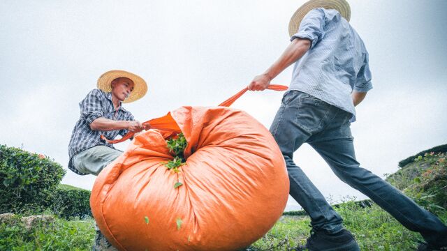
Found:
M 265 70 L 263 74 L 254 77 L 248 89 L 250 91 L 265 90 L 270 85 L 270 81 L 292 63 L 300 59 L 309 50 L 310 45 L 311 42 L 308 39 L 295 38 L 270 68 Z

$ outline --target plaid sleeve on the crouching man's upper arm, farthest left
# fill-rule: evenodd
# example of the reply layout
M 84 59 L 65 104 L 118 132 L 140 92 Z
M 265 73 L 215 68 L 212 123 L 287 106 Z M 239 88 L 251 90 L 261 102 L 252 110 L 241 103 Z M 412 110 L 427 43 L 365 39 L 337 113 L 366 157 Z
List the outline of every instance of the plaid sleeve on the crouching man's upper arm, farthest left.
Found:
M 95 119 L 104 116 L 101 95 L 101 91 L 94 89 L 79 103 L 81 117 L 87 121 L 89 126 Z

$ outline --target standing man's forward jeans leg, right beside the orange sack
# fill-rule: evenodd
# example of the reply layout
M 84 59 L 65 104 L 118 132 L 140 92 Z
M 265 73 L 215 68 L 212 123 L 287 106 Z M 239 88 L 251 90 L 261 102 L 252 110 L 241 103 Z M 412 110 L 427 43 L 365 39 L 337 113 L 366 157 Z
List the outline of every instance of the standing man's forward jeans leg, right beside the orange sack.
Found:
M 312 130 L 305 128 L 318 128 L 334 109 L 318 100 L 319 103 L 312 101 L 309 102 L 311 106 L 306 107 L 303 103 L 309 100 L 304 100 L 305 96 L 308 95 L 299 91 L 290 91 L 284 96 L 270 132 L 286 161 L 291 196 L 309 214 L 314 229 L 325 229 L 328 233 L 336 233 L 343 228 L 342 218 L 328 204 L 302 169 L 293 162 L 293 152 L 312 135 Z M 300 113 L 307 112 L 307 114 L 301 114 L 302 118 L 309 119 L 298 119 L 298 109 L 301 109 Z

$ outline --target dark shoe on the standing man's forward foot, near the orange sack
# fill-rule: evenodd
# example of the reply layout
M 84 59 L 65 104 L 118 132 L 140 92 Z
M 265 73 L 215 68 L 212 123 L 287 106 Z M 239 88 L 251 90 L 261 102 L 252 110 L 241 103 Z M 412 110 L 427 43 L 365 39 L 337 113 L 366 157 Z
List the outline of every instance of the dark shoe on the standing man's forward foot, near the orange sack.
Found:
M 307 243 L 296 250 L 309 251 L 360 251 L 357 241 L 351 232 L 343 229 L 336 234 L 328 234 L 324 230 L 311 231 Z

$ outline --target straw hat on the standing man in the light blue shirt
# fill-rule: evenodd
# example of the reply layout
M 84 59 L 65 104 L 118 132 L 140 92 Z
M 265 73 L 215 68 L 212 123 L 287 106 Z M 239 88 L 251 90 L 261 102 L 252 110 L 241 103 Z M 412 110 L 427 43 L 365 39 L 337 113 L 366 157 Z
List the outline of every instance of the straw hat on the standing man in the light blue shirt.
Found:
M 314 8 L 334 9 L 348 22 L 351 19 L 351 8 L 346 0 L 310 0 L 298 8 L 295 14 L 293 14 L 291 22 L 288 23 L 288 34 L 290 36 L 298 32 L 302 18 Z

